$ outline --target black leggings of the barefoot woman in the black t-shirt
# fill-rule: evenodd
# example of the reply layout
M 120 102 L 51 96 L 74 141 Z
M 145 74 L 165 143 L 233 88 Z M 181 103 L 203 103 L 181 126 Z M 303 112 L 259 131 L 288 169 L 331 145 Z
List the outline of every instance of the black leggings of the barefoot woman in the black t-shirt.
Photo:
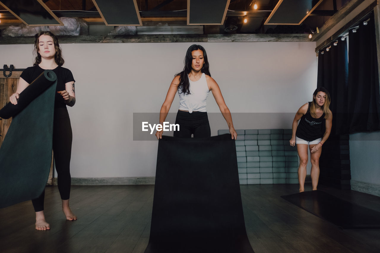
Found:
M 70 198 L 70 158 L 72 141 L 73 132 L 71 131 L 70 117 L 67 109 L 55 108 L 53 123 L 54 164 L 58 174 L 58 190 L 63 200 Z M 44 210 L 44 196 L 45 190 L 41 193 L 40 197 L 32 199 L 35 212 Z

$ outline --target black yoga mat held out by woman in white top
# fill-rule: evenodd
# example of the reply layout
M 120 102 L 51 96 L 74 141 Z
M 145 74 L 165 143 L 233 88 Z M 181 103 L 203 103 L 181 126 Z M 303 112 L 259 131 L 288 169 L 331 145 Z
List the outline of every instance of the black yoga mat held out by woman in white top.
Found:
M 145 253 L 252 253 L 231 134 L 163 136 Z

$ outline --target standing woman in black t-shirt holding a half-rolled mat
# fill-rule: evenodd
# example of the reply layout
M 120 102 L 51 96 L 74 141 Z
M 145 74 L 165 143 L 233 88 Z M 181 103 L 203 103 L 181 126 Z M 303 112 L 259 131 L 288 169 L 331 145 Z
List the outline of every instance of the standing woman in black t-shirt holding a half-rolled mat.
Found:
M 9 101 L 17 104 L 19 94 L 38 77 L 44 70 L 53 70 L 57 75 L 57 89 L 54 102 L 53 123 L 53 151 L 55 169 L 58 173 L 58 189 L 62 199 L 62 210 L 67 220 L 76 220 L 77 217 L 70 209 L 70 158 L 71 131 L 70 118 L 66 106 L 75 104 L 74 77 L 71 71 L 63 68 L 65 62 L 62 58 L 61 49 L 57 37 L 51 32 L 40 32 L 35 35 L 36 59 L 32 67 L 26 68 L 20 75 L 16 93 L 11 95 Z M 32 199 L 36 212 L 36 229 L 50 229 L 44 215 L 45 191 L 37 199 Z

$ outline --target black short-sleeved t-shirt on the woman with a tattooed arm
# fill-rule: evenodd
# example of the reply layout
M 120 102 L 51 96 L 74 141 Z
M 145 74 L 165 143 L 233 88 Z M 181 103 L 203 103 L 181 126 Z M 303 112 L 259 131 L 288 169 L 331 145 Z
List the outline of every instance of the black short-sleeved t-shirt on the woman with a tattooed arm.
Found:
M 24 71 L 22 71 L 20 77 L 24 79 L 28 84 L 33 82 L 42 72 L 44 71 L 43 68 L 36 65 L 33 67 L 28 67 Z M 58 66 L 55 68 L 54 73 L 57 75 L 57 89 L 55 89 L 55 102 L 54 102 L 54 108 L 62 108 L 66 107 L 65 100 L 63 99 L 62 95 L 57 93 L 57 91 L 66 90 L 66 83 L 74 81 L 73 74 L 71 71 L 67 68 L 63 68 L 62 66 Z

